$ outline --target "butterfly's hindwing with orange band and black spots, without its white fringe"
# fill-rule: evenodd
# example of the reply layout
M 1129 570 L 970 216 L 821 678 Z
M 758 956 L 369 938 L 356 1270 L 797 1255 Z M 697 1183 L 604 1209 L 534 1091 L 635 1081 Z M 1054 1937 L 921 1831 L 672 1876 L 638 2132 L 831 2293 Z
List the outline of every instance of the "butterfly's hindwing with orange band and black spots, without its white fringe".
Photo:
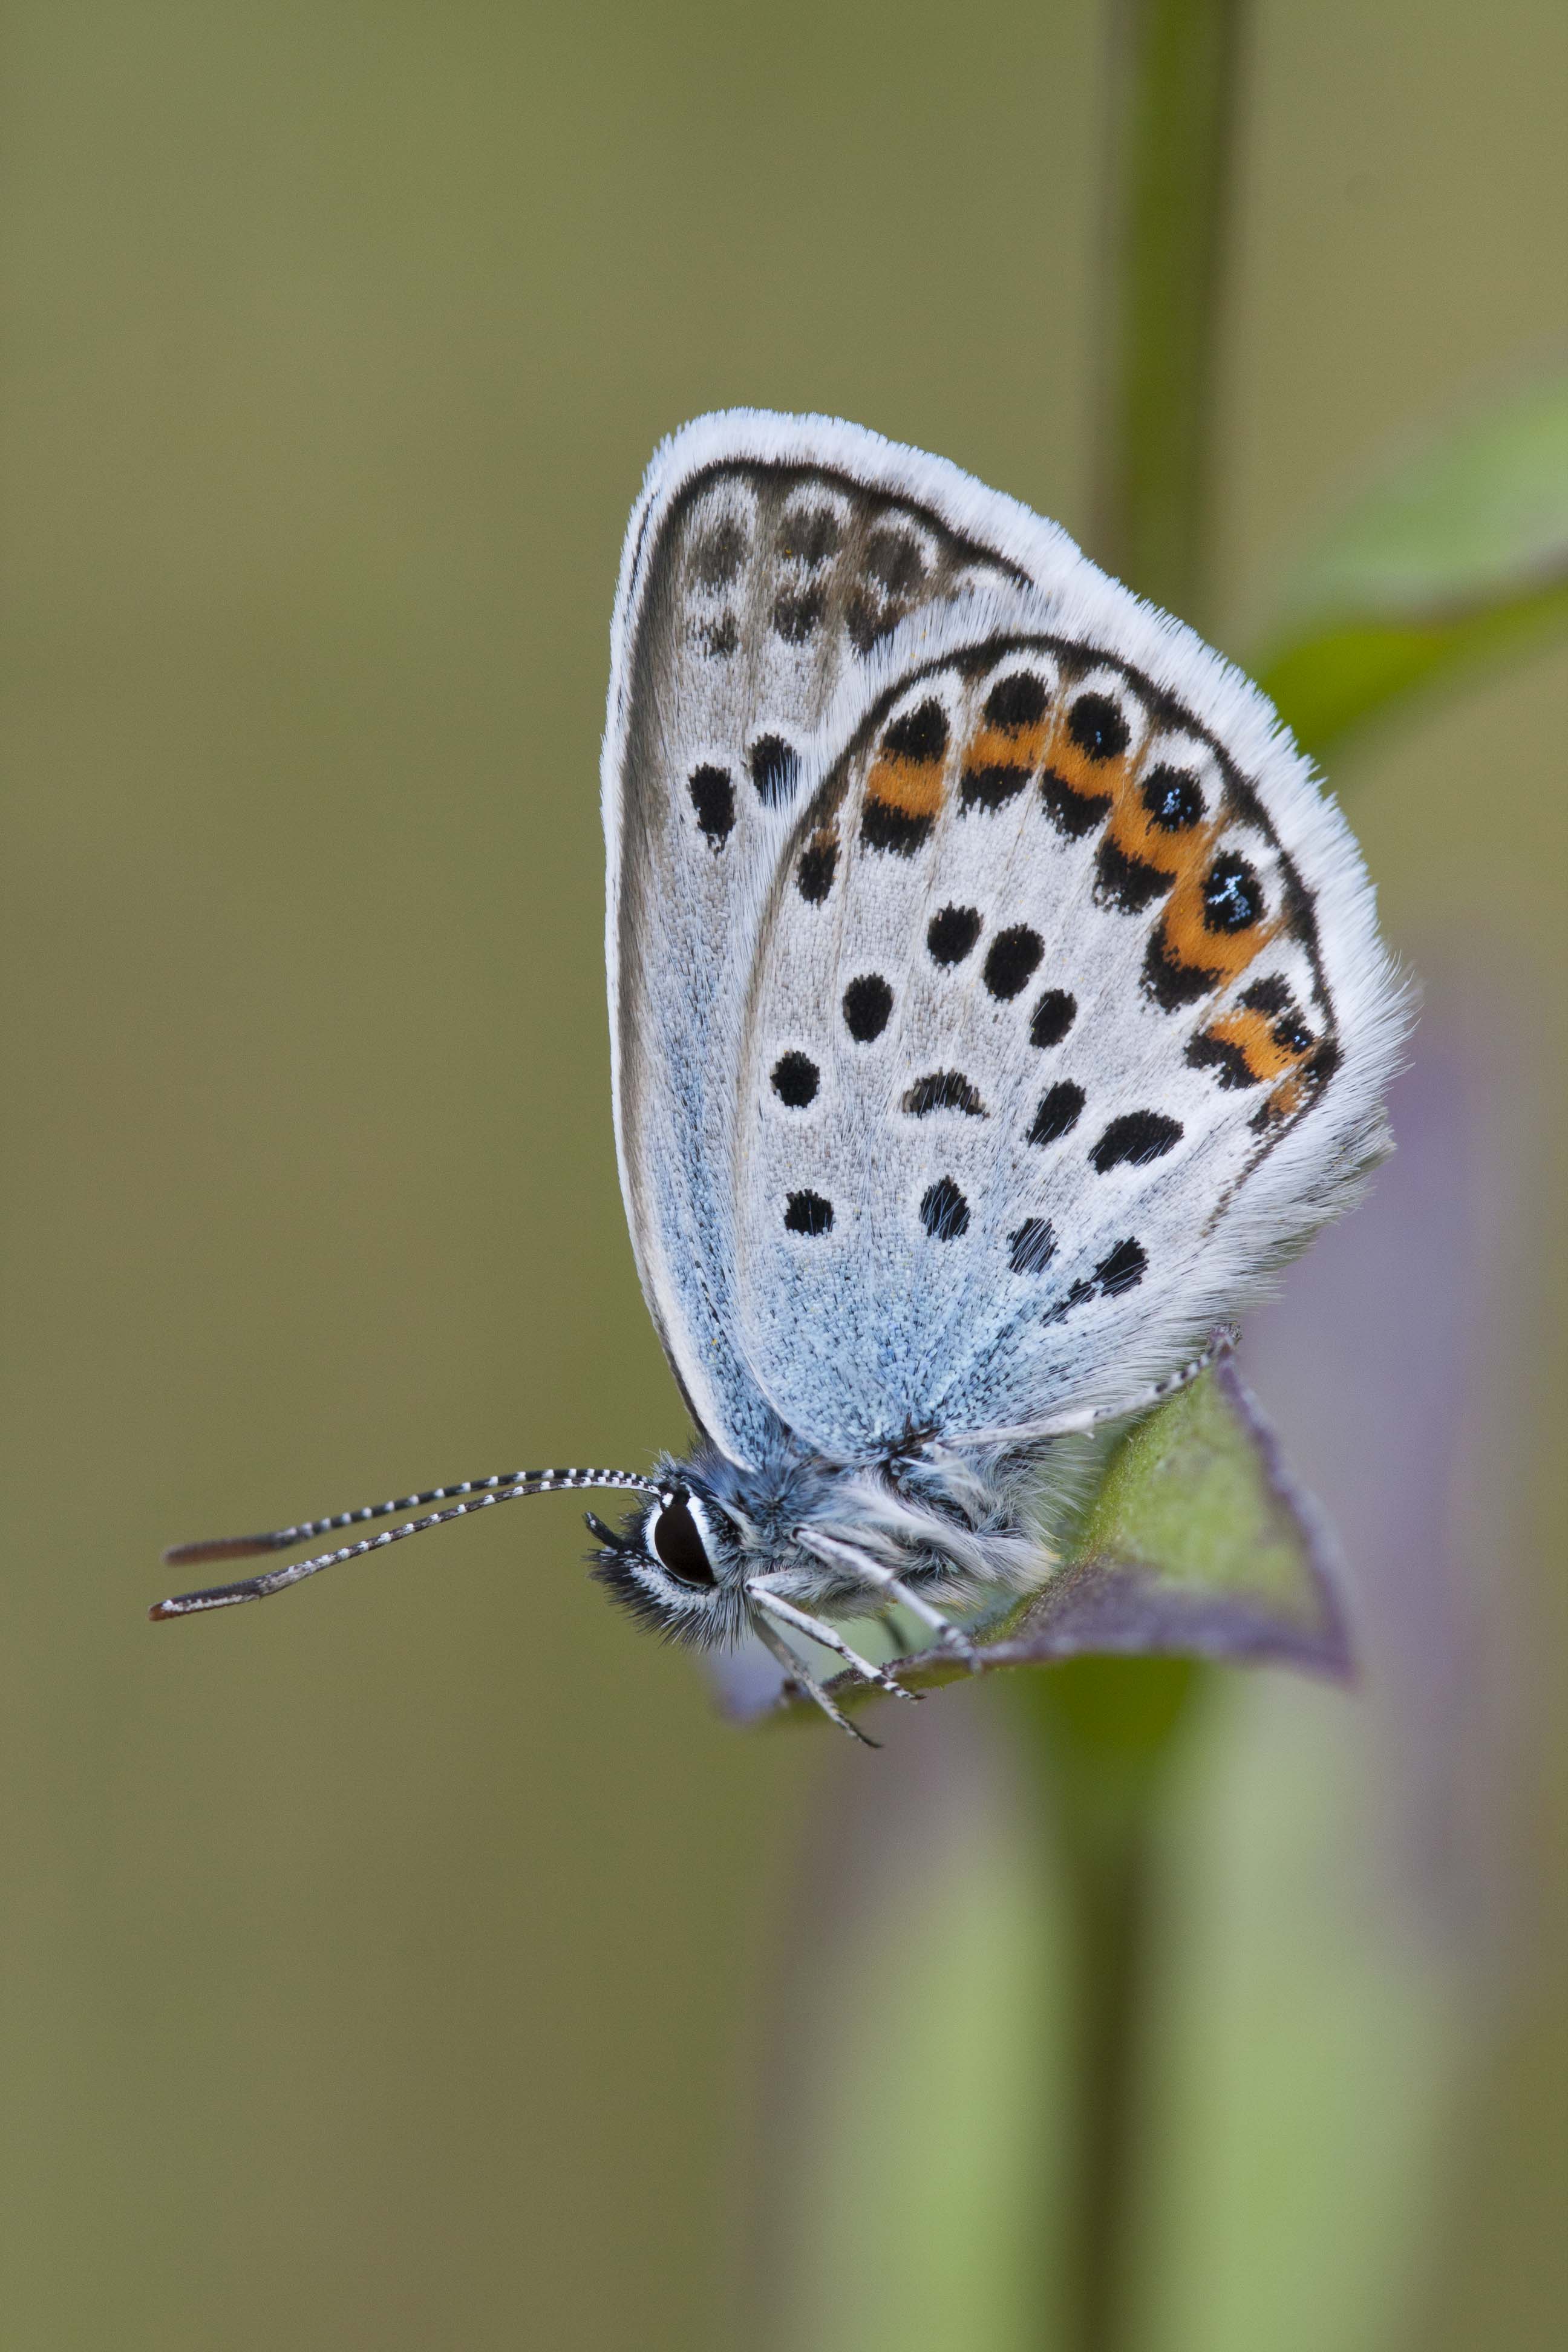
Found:
M 1227 1216 L 1340 1065 L 1295 861 L 1190 715 L 1020 633 L 884 696 L 799 840 L 743 1082 L 757 1378 L 849 1454 L 1131 1392 L 1234 1303 Z

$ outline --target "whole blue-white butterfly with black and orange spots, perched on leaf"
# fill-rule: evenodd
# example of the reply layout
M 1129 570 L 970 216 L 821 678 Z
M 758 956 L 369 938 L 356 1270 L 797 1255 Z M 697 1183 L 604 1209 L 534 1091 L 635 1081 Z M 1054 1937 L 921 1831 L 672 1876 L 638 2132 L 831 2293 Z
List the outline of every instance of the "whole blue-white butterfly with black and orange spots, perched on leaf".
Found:
M 1227 1345 L 1389 1148 L 1408 1007 L 1265 696 L 957 466 L 729 409 L 630 517 L 604 727 L 621 1188 L 686 1458 L 428 1489 L 169 1559 L 630 1489 L 595 1573 L 691 1646 L 1039 1583 L 1063 1439 Z

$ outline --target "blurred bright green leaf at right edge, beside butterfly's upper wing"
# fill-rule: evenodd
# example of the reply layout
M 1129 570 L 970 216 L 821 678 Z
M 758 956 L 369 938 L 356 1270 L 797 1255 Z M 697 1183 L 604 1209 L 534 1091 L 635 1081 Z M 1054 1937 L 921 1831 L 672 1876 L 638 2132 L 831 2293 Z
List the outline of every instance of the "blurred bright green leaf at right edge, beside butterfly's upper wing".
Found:
M 1568 628 L 1568 381 L 1516 390 L 1345 508 L 1251 663 L 1324 760 L 1399 703 Z

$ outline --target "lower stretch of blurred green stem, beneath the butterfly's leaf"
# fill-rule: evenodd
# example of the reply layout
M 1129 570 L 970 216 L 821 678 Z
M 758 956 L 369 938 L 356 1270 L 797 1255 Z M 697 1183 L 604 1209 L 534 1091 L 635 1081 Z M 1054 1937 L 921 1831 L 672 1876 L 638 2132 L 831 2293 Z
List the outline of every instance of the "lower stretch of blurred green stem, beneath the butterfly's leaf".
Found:
M 1067 2209 L 1041 2239 L 1037 2303 L 1070 2352 L 1131 2340 L 1159 1799 L 1197 1677 L 1187 1658 L 1074 1658 L 1023 1677 L 1070 1945 Z

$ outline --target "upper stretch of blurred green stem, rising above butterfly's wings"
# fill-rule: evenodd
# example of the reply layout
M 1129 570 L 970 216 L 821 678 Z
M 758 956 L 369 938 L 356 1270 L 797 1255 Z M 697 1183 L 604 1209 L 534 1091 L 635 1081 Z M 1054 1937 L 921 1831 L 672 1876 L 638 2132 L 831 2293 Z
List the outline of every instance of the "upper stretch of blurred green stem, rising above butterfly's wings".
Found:
M 1244 0 L 1112 0 L 1110 19 L 1091 553 L 1201 626 Z

